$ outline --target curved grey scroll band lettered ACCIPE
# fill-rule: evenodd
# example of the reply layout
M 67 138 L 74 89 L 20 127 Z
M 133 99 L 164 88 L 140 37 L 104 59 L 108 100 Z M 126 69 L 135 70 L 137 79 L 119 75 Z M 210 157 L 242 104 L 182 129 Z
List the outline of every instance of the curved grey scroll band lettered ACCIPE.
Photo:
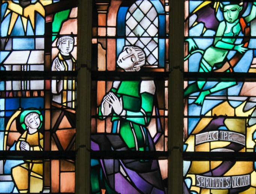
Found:
M 229 141 L 245 145 L 245 135 L 226 130 L 196 134 L 196 145 L 211 141 Z

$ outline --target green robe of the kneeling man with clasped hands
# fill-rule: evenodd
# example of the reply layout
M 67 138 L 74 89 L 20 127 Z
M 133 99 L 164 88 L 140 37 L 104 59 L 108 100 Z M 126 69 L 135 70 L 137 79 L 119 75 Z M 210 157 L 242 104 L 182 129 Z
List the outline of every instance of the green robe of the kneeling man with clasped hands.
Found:
M 149 132 L 146 129 L 153 112 L 154 95 L 148 92 L 140 93 L 141 81 L 121 81 L 118 88 L 112 87 L 111 92 L 122 97 L 125 116 L 113 113 L 112 133 L 120 133 L 131 150 L 149 150 Z M 99 117 L 103 119 L 101 108 Z

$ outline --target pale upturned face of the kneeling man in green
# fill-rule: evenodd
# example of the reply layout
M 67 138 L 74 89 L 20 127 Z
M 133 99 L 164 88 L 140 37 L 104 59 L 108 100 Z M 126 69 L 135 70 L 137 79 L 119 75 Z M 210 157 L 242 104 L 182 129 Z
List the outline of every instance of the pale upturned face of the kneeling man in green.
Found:
M 138 53 L 131 47 L 126 47 L 118 56 L 117 65 L 123 70 L 129 71 L 139 61 Z

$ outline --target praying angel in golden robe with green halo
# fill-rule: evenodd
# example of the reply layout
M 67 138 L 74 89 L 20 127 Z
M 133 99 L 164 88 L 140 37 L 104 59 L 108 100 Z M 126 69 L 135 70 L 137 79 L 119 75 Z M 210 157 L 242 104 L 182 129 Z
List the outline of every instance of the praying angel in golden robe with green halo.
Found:
M 25 132 L 18 139 L 16 150 L 43 150 L 43 135 L 38 131 L 42 126 L 42 121 L 43 116 L 38 110 L 24 110 L 21 113 L 20 123 Z M 24 163 L 13 167 L 11 173 L 15 186 L 20 193 L 39 193 L 43 190 L 42 160 L 25 160 Z

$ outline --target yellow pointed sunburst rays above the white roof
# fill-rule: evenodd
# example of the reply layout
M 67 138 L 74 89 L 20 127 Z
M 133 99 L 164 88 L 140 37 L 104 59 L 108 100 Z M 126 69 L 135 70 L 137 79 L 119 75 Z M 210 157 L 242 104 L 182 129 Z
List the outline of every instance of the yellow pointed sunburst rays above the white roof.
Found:
M 20 4 L 14 3 L 12 0 L 3 0 L 3 3 L 8 3 L 5 16 L 8 15 L 8 13 L 12 12 L 8 35 L 11 34 L 18 16 L 21 16 L 25 31 L 27 29 L 27 20 L 31 22 L 32 28 L 33 30 L 35 30 L 36 13 L 41 14 L 43 17 L 45 16 L 45 10 L 43 5 L 41 4 L 41 0 L 36 2 L 35 4 L 30 4 L 25 8 L 20 6 Z

